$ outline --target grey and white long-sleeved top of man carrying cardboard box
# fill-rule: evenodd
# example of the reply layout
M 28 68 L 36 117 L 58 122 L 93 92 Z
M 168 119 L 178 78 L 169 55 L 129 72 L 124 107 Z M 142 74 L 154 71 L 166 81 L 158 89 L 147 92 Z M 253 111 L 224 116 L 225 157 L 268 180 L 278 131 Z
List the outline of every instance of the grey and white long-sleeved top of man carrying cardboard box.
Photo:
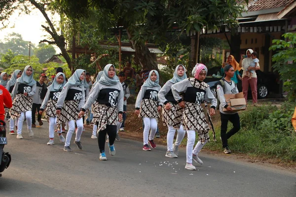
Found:
M 224 79 L 224 78 L 223 78 Z M 222 80 L 223 80 L 222 79 Z M 225 83 L 225 87 L 223 89 L 221 82 L 218 82 L 217 85 L 217 95 L 218 95 L 218 99 L 220 100 L 220 112 L 222 114 L 235 114 L 237 112 L 228 112 L 228 111 L 223 111 L 223 108 L 226 108 L 228 105 L 225 101 L 225 97 L 224 95 L 232 95 L 232 94 L 237 94 L 238 93 L 238 89 L 236 87 L 236 84 L 234 81 L 231 80 L 231 84 L 229 84 L 227 81 L 224 80 Z

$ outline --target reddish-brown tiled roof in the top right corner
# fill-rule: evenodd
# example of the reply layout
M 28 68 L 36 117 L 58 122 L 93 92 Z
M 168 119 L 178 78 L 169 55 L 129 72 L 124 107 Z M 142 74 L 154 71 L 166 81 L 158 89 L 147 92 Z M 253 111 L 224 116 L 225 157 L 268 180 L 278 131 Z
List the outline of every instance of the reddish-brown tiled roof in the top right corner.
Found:
M 249 0 L 248 12 L 259 11 L 264 9 L 272 9 L 278 7 L 286 7 L 295 0 Z M 239 0 L 242 4 L 244 0 Z

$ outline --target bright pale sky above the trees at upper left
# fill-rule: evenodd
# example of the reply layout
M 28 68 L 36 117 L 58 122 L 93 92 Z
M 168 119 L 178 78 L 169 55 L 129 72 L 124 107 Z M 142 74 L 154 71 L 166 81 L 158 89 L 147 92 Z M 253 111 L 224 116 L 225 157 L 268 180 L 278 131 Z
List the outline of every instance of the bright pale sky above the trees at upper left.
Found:
M 54 15 L 53 17 L 49 16 L 49 18 L 58 21 L 59 16 Z M 40 40 L 46 39 L 46 36 L 49 35 L 42 29 L 41 25 L 46 26 L 46 22 L 39 10 L 33 10 L 30 15 L 23 13 L 19 15 L 18 12 L 15 12 L 9 18 L 9 26 L 6 29 L 0 30 L 0 40 L 3 41 L 7 34 L 15 32 L 21 34 L 24 40 L 31 41 L 37 46 Z M 1 27 L 2 24 L 0 24 Z M 57 50 L 57 47 L 55 48 Z

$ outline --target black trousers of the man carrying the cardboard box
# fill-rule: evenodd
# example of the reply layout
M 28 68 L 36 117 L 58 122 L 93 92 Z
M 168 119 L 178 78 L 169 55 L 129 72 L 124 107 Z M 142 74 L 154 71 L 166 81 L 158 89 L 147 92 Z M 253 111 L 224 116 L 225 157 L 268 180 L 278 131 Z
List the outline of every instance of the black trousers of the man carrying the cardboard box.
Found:
M 228 146 L 228 139 L 234 135 L 235 133 L 237 133 L 240 130 L 240 121 L 239 121 L 239 115 L 238 113 L 235 114 L 222 114 L 220 112 L 221 115 L 221 139 L 222 139 L 222 146 L 223 148 L 225 148 L 226 146 Z M 233 128 L 227 131 L 227 124 L 228 121 L 230 121 L 233 125 Z

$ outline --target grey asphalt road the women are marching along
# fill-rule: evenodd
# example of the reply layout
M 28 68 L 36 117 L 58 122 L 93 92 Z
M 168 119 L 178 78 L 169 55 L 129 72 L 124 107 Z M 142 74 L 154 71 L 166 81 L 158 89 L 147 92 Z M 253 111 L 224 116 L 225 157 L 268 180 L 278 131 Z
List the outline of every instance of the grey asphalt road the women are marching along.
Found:
M 147 152 L 128 139 L 115 142 L 113 157 L 106 144 L 108 161 L 100 161 L 91 131 L 82 134 L 83 150 L 73 136 L 67 153 L 57 135 L 46 145 L 47 128 L 33 128 L 34 138 L 27 129 L 24 139 L 7 136 L 12 162 L 0 177 L 0 197 L 296 197 L 296 174 L 288 171 L 202 153 L 204 165 L 190 171 L 184 149 L 171 159 L 164 146 Z

